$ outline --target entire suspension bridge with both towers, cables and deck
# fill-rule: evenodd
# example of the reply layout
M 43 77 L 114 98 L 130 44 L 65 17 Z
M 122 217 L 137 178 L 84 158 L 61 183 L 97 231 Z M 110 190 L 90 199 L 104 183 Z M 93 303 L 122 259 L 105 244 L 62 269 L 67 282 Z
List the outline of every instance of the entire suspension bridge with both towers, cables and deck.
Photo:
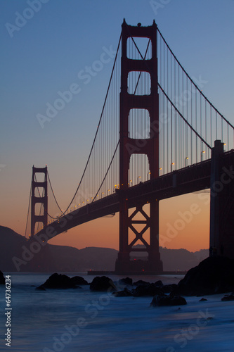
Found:
M 159 273 L 160 200 L 209 188 L 210 245 L 234 258 L 234 127 L 201 85 L 186 73 L 155 21 L 143 27 L 124 20 L 77 190 L 60 208 L 47 166 L 33 167 L 25 236 L 47 241 L 119 212 L 116 272 Z M 146 259 L 133 261 L 136 252 Z

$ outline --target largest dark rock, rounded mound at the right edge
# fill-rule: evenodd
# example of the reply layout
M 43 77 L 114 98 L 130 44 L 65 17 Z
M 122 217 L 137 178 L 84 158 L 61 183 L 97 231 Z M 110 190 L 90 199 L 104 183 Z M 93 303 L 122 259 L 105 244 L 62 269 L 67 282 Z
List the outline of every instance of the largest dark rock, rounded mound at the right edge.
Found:
M 234 260 L 212 256 L 202 260 L 181 279 L 175 290 L 186 296 L 203 296 L 234 291 Z

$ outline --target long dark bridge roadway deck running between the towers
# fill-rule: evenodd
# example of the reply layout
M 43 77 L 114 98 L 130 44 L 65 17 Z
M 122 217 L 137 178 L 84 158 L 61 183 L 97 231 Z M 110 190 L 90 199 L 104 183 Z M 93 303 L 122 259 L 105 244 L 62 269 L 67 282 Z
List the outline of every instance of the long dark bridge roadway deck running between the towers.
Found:
M 222 154 L 221 164 L 229 168 L 234 163 L 234 150 Z M 70 230 L 72 227 L 91 220 L 119 212 L 119 197 L 124 196 L 129 201 L 129 208 L 136 204 L 147 203 L 152 199 L 162 200 L 182 194 L 188 194 L 210 188 L 211 159 L 190 165 L 186 168 L 169 172 L 157 179 L 141 182 L 129 187 L 126 191 L 116 189 L 115 194 L 89 203 L 82 208 L 64 215 L 37 232 L 37 235 L 47 234 L 53 238 Z

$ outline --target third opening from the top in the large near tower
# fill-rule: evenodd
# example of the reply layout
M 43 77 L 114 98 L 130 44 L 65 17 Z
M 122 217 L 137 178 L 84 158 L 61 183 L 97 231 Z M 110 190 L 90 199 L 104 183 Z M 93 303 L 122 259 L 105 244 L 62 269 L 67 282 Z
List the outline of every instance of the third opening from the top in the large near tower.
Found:
M 129 111 L 129 138 L 150 138 L 150 113 L 147 109 L 133 108 Z

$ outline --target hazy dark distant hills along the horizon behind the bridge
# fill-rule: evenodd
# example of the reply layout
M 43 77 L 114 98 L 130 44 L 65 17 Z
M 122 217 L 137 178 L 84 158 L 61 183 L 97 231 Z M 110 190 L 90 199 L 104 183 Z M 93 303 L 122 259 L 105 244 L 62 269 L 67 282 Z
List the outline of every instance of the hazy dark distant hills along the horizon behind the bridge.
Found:
M 115 270 L 118 251 L 109 248 L 46 244 L 27 241 L 8 227 L 0 226 L 0 270 L 3 272 L 83 272 Z M 208 250 L 160 248 L 164 271 L 189 270 L 207 258 Z

